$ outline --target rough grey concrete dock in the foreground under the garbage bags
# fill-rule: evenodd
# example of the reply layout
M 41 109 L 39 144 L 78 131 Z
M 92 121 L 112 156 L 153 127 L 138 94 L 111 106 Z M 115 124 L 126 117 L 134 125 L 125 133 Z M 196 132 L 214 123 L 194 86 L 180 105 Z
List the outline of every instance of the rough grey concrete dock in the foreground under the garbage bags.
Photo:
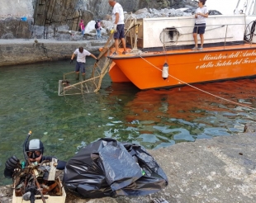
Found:
M 168 176 L 169 184 L 150 196 L 81 199 L 67 191 L 66 203 L 253 203 L 256 200 L 256 125 L 244 133 L 199 139 L 149 150 Z M 12 202 L 11 186 L 0 187 L 0 202 Z

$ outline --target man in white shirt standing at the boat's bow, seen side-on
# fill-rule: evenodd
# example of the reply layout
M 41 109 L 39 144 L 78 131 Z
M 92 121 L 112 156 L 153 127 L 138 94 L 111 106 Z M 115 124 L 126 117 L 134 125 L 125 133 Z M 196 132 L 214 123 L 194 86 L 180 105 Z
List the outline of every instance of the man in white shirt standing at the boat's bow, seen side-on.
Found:
M 123 8 L 116 0 L 108 0 L 109 5 L 113 7 L 112 10 L 112 21 L 114 21 L 114 39 L 116 51 L 113 54 L 118 54 L 119 39 L 123 44 L 124 51 L 122 54 L 126 54 L 126 40 L 125 40 L 125 16 Z

